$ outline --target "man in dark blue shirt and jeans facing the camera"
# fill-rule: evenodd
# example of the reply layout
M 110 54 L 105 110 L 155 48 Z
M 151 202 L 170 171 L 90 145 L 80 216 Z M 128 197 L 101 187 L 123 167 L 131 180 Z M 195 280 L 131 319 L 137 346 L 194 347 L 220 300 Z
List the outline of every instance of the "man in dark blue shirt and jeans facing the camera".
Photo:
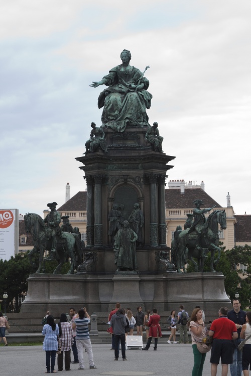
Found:
M 246 312 L 240 309 L 240 305 L 239 299 L 233 299 L 233 309 L 227 314 L 227 318 L 235 323 L 238 333 L 238 338 L 234 340 L 233 363 L 230 364 L 231 376 L 241 376 L 242 374 L 242 352 L 238 350 L 238 344 L 242 340 L 239 335 L 242 325 L 246 322 Z

